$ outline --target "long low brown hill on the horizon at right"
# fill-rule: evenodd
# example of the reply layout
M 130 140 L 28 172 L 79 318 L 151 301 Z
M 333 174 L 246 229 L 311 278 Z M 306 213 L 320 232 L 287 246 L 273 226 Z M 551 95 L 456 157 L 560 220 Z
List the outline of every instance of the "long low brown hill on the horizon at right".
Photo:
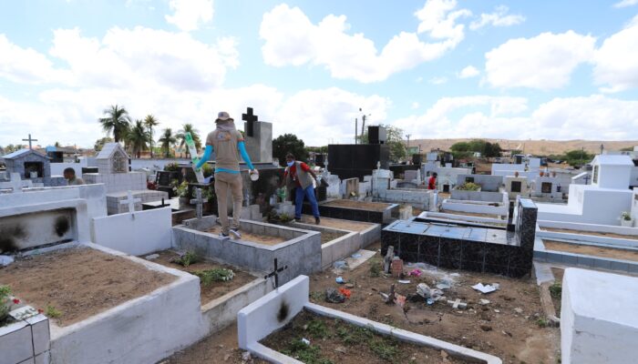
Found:
M 598 154 L 601 151 L 601 145 L 608 150 L 620 150 L 624 147 L 638 146 L 638 140 L 508 140 L 508 139 L 489 139 L 490 143 L 499 143 L 503 149 L 521 149 L 525 154 L 533 155 L 551 155 L 562 154 L 570 150 L 585 148 L 585 151 Z M 472 140 L 472 138 L 458 139 L 415 139 L 410 140 L 410 147 L 421 147 L 422 152 L 428 152 L 430 149 L 440 148 L 441 150 L 449 150 L 453 144 Z

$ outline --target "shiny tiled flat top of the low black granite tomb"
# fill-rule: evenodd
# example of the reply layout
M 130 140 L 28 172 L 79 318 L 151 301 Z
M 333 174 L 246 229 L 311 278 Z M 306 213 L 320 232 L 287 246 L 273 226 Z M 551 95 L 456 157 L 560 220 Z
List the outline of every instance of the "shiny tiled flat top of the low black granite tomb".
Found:
M 494 228 L 460 227 L 456 225 L 439 225 L 396 220 L 384 230 L 433 238 L 455 238 L 479 243 L 520 246 L 520 241 L 516 234 Z

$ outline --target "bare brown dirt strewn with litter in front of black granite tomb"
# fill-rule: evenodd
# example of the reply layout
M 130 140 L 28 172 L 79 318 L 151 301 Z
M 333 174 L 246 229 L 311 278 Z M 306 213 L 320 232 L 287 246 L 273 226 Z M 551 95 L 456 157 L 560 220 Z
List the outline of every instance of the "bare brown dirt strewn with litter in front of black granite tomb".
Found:
M 443 269 L 423 270 L 420 277 L 409 277 L 409 284 L 397 283 L 395 278 L 373 277 L 371 267 L 379 267 L 379 253 L 358 268 L 342 272 L 352 284 L 351 298 L 334 304 L 324 300 L 326 288 L 339 288 L 334 272 L 326 270 L 311 277 L 311 300 L 329 308 L 355 314 L 442 339 L 471 349 L 498 356 L 504 363 L 555 363 L 560 358 L 560 333 L 555 328 L 541 328 L 542 308 L 540 290 L 532 279 L 505 278 L 491 274 L 461 271 L 452 288 L 444 290 L 448 299 L 459 298 L 468 309 L 454 309 L 447 303 L 428 306 L 423 298 L 415 297 L 418 283 L 430 288 L 446 274 Z M 406 268 L 407 269 L 407 268 Z M 407 271 L 407 270 L 406 270 Z M 483 295 L 471 288 L 478 282 L 499 283 L 500 289 Z M 405 311 L 396 305 L 386 305 L 379 291 L 387 293 L 396 283 L 396 292 L 408 297 Z M 415 299 L 412 301 L 410 298 Z M 489 300 L 480 305 L 479 299 Z

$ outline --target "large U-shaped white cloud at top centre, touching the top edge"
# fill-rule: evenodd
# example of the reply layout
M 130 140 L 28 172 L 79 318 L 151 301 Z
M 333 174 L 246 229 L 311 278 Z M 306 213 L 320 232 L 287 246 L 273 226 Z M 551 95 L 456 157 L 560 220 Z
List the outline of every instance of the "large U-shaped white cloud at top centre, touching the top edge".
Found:
M 425 43 L 416 33 L 401 32 L 379 52 L 365 35 L 348 34 L 350 25 L 345 15 L 327 15 L 314 25 L 300 8 L 277 5 L 262 18 L 263 60 L 280 67 L 324 66 L 334 78 L 364 83 L 382 81 L 437 59 L 458 45 L 464 25 L 455 22 L 468 12 L 450 12 L 455 6 L 455 1 L 429 0 L 417 12 L 421 20 L 418 33 L 427 33 L 436 42 Z

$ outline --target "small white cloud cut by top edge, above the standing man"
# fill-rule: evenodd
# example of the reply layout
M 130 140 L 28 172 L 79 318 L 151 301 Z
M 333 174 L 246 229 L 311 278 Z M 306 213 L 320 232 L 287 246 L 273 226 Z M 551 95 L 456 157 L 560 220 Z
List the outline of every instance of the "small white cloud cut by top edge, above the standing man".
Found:
M 212 19 L 212 0 L 170 0 L 173 15 L 165 15 L 166 21 L 184 32 L 196 30 Z

